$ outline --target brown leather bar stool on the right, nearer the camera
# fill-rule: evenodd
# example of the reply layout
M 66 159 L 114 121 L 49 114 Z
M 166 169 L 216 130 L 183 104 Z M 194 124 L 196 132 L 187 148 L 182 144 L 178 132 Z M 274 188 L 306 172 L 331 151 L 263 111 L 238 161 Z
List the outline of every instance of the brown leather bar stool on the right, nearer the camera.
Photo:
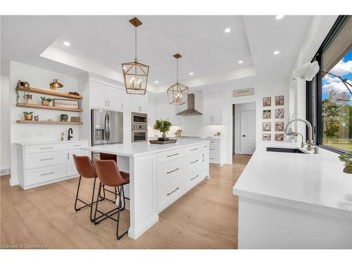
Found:
M 112 217 L 113 214 L 109 215 L 110 212 L 108 213 L 101 213 L 98 210 L 98 200 L 96 202 L 96 207 L 95 207 L 95 213 L 94 213 L 94 224 L 97 225 L 99 224 L 99 221 L 96 221 L 96 212 L 101 213 L 101 216 L 105 216 L 106 218 L 110 218 L 111 220 L 114 220 L 117 222 L 116 224 L 116 237 L 118 240 L 120 240 L 125 234 L 127 234 L 128 230 L 122 234 L 118 234 L 118 226 L 120 223 L 120 211 L 125 209 L 125 191 L 123 189 L 123 186 L 125 184 L 130 183 L 130 174 L 127 172 L 120 172 L 118 170 L 118 165 L 115 163 L 115 161 L 94 161 L 95 169 L 96 169 L 96 175 L 98 175 L 100 183 L 99 183 L 99 191 L 98 195 L 96 196 L 97 199 L 99 199 L 100 193 L 101 193 L 101 187 L 103 184 L 108 187 L 117 187 L 119 189 L 119 195 L 118 196 L 118 219 L 115 219 Z M 122 197 L 123 197 L 123 207 L 122 207 Z M 106 219 L 104 218 L 104 219 Z

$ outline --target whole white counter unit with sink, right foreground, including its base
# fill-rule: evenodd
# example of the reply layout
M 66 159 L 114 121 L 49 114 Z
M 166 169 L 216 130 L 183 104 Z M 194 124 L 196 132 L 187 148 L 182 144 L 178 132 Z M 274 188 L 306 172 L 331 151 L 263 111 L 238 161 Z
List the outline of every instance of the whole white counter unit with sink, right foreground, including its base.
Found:
M 352 175 L 338 154 L 281 153 L 261 144 L 233 194 L 239 249 L 352 249 Z

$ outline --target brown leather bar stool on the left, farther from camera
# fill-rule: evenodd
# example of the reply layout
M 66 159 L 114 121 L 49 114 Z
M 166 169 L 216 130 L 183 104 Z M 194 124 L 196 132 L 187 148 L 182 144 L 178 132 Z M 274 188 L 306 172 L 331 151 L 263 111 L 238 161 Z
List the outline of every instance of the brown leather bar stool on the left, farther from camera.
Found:
M 77 212 L 77 210 L 81 210 L 82 208 L 89 206 L 90 207 L 90 220 L 93 222 L 94 221 L 94 219 L 92 218 L 93 204 L 96 203 L 96 201 L 94 201 L 96 172 L 95 172 L 95 169 L 92 165 L 92 161 L 89 158 L 89 156 L 76 156 L 75 154 L 73 154 L 73 161 L 75 162 L 75 166 L 76 166 L 76 170 L 77 170 L 78 174 L 80 174 L 80 180 L 78 180 L 78 187 L 77 187 L 77 194 L 76 194 L 76 201 L 75 201 L 75 210 Z M 87 203 L 86 201 L 82 201 L 81 199 L 78 198 L 78 193 L 80 191 L 80 184 L 81 184 L 82 177 L 87 178 L 87 179 L 94 179 L 92 201 L 90 203 Z M 101 199 L 100 201 L 102 201 L 102 200 L 103 199 Z M 83 203 L 84 206 L 77 208 L 77 201 L 80 201 L 81 203 Z

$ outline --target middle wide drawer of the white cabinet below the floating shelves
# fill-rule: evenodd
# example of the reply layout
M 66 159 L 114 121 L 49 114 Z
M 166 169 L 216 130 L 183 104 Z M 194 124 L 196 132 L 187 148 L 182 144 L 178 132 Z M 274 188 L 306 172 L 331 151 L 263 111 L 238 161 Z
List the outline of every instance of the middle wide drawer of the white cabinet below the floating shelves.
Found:
M 25 168 L 40 168 L 66 163 L 66 151 L 30 153 L 25 155 Z

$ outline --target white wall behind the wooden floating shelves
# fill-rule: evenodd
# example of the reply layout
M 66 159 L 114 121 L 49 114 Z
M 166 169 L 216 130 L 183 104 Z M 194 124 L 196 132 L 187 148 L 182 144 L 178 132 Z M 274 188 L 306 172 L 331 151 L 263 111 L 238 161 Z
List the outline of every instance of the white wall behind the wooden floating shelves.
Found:
M 23 63 L 11 61 L 10 63 L 10 104 L 11 104 L 11 180 L 10 184 L 18 184 L 17 177 L 17 158 L 15 150 L 15 142 L 45 142 L 60 140 L 61 132 L 65 132 L 65 137 L 68 134 L 68 128 L 73 128 L 73 140 L 80 139 L 78 125 L 39 125 L 39 124 L 18 124 L 16 120 L 23 120 L 23 111 L 33 111 L 39 115 L 39 120 L 60 120 L 61 113 L 66 113 L 69 116 L 77 116 L 79 113 L 68 111 L 47 111 L 36 108 L 16 107 L 15 87 L 18 80 L 30 82 L 32 87 L 49 89 L 49 84 L 53 79 L 58 79 L 63 84 L 60 92 L 77 92 L 77 80 L 68 75 L 54 73 L 50 70 L 33 67 Z M 80 91 L 78 91 L 80 92 Z M 34 103 L 40 103 L 42 94 L 33 94 Z M 51 97 L 52 96 L 46 96 Z M 20 92 L 20 102 L 23 102 L 23 92 Z

